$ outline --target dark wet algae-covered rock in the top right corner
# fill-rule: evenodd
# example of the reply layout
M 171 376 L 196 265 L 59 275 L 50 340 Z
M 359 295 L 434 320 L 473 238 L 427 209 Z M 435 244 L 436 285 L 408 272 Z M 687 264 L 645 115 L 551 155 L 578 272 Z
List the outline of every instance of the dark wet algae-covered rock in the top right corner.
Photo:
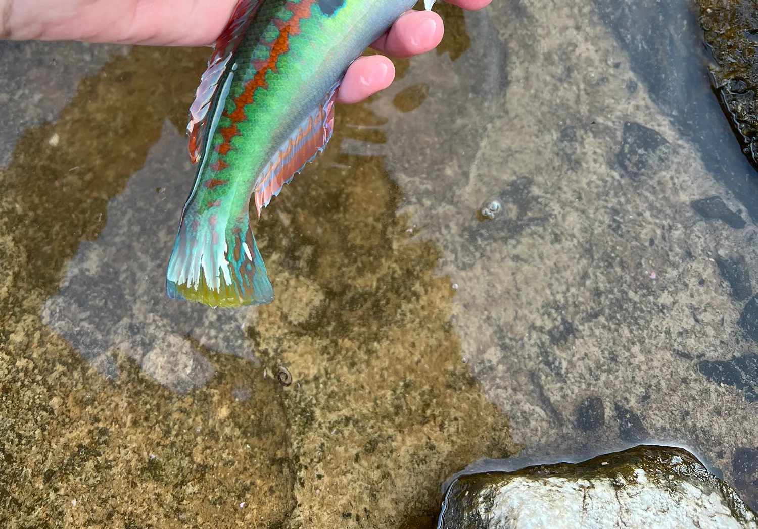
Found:
M 700 26 L 716 64 L 713 89 L 753 166 L 758 166 L 758 2 L 699 0 Z

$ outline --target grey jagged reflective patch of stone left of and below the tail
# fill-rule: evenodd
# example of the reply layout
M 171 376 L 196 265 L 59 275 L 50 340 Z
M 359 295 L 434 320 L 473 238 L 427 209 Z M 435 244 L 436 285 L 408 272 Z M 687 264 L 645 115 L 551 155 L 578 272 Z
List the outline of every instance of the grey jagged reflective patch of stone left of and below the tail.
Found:
M 213 375 L 202 347 L 256 361 L 244 343 L 246 311 L 176 303 L 165 295 L 165 248 L 174 244 L 179 225 L 176 204 L 189 196 L 193 182 L 185 146 L 166 121 L 143 168 L 108 204 L 108 223 L 97 241 L 80 244 L 41 314 L 109 378 L 118 375 L 111 352 L 120 350 L 182 393 Z M 136 236 L 149 241 L 139 252 Z

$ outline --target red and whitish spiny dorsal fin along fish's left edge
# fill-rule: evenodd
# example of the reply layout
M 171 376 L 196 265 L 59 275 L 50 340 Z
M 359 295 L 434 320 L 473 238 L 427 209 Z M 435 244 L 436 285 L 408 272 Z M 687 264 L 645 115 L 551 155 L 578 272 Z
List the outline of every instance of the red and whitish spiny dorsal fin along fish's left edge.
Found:
M 229 23 L 224 28 L 224 32 L 213 45 L 213 53 L 208 59 L 208 68 L 200 78 L 200 86 L 197 87 L 195 101 L 189 107 L 187 135 L 189 135 L 189 157 L 192 158 L 193 163 L 200 160 L 205 130 L 208 128 L 208 110 L 211 107 L 213 97 L 218 92 L 224 73 L 229 68 L 233 68 L 234 65 L 230 64 L 232 55 L 239 48 L 250 22 L 263 1 L 239 0 Z

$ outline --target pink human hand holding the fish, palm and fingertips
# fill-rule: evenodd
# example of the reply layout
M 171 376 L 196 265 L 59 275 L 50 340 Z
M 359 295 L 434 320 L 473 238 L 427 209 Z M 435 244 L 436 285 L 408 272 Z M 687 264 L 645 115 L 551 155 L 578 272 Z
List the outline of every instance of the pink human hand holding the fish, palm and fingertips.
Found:
M 490 0 L 448 0 L 480 9 Z M 198 46 L 215 42 L 237 0 L 0 0 L 0 37 L 115 44 Z M 170 21 L 170 23 L 168 23 Z M 426 53 L 440 44 L 443 22 L 431 11 L 402 14 L 372 48 L 395 57 Z M 382 55 L 353 62 L 340 86 L 340 103 L 357 103 L 384 90 L 395 67 Z

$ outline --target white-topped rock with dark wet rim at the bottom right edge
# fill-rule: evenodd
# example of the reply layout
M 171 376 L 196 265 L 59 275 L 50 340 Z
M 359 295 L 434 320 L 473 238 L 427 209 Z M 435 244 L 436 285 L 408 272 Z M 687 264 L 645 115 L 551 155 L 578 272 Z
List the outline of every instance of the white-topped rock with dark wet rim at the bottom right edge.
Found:
M 756 527 L 737 493 L 687 450 L 642 445 L 581 463 L 462 476 L 440 528 Z

